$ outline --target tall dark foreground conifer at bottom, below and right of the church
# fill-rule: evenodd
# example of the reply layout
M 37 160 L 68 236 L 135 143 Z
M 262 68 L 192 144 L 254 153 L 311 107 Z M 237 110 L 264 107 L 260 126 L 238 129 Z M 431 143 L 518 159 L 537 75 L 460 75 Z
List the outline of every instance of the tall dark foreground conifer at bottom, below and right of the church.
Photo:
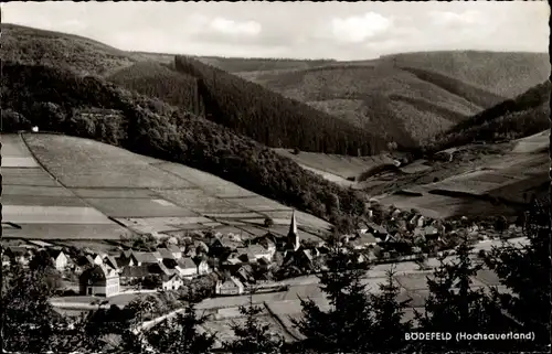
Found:
M 325 353 L 361 353 L 372 348 L 373 319 L 370 298 L 361 282 L 367 271 L 352 251 L 332 247 L 328 270 L 319 275 L 330 304 L 322 310 L 311 299 L 300 299 L 302 318 L 293 320 L 307 340 L 306 350 Z

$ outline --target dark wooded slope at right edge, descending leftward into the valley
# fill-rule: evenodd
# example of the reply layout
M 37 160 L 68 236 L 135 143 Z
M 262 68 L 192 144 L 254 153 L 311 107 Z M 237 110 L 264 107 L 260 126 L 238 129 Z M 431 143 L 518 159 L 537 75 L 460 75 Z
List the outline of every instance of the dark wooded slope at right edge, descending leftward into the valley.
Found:
M 435 152 L 474 141 L 511 140 L 550 127 L 551 83 L 546 81 L 436 136 L 423 147 Z

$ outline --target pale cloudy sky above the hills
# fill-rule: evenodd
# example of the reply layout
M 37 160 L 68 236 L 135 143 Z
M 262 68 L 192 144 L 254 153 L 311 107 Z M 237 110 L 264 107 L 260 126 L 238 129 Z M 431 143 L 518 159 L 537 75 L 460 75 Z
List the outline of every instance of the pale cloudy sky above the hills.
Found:
M 548 52 L 548 1 L 9 2 L 2 22 L 120 50 L 364 60 L 420 51 Z

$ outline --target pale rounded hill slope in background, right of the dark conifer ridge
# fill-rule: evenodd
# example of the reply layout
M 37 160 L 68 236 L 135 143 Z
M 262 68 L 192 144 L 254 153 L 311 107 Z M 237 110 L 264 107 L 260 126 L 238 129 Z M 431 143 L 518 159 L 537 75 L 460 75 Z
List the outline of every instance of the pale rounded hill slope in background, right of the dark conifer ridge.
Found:
M 410 146 L 502 100 L 454 78 L 423 74 L 372 61 L 244 77 Z

